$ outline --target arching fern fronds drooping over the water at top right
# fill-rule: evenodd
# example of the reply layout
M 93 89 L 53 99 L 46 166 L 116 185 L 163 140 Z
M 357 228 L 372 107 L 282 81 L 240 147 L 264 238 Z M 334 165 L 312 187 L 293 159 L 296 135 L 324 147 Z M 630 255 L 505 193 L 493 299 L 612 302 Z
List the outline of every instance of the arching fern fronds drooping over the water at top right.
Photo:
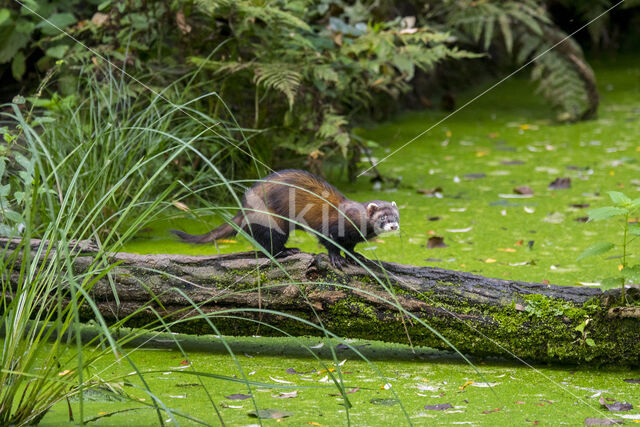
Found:
M 582 50 L 551 21 L 543 3 L 534 0 L 442 2 L 435 16 L 456 29 L 460 40 L 485 51 L 504 49 L 509 62 L 523 66 L 534 60 L 531 77 L 561 121 L 595 114 L 593 72 Z M 495 55 L 495 53 L 494 53 Z M 593 111 L 592 111 L 593 110 Z

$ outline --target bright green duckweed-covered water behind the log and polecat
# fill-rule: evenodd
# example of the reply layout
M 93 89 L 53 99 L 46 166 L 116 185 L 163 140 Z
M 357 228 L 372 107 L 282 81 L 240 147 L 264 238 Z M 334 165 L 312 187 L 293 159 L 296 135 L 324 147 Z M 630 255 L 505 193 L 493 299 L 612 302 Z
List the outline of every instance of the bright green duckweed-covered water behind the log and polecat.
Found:
M 640 64 L 611 60 L 596 64 L 596 74 L 602 102 L 593 121 L 550 121 L 553 114 L 532 95 L 535 88 L 516 78 L 409 144 L 446 113 L 406 113 L 361 129 L 363 138 L 379 145 L 372 157 L 380 172 L 400 183 L 378 188 L 368 176 L 355 184 L 339 175 L 329 180 L 354 200 L 396 201 L 401 233 L 356 249 L 385 261 L 560 285 L 594 283 L 611 275 L 619 264 L 616 252 L 609 254 L 614 257 L 610 260 L 576 258 L 600 240 L 621 240 L 615 221 L 583 222 L 589 209 L 609 203 L 606 191 L 640 196 Z M 569 188 L 550 189 L 558 178 L 569 178 Z M 514 192 L 522 186 L 533 195 Z M 220 223 L 215 216 L 158 221 L 123 251 L 212 254 L 252 249 L 243 238 L 217 247 L 194 246 L 177 242 L 168 232 L 203 233 Z M 442 237 L 446 247 L 429 249 L 432 237 Z M 289 246 L 325 251 L 301 231 Z M 630 264 L 637 262 L 633 249 Z

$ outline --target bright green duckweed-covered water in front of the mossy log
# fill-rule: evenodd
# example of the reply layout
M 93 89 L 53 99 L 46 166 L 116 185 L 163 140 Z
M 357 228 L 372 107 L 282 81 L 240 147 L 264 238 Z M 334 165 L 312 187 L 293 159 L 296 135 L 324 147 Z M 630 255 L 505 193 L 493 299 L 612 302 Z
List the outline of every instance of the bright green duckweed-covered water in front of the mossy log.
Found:
M 290 414 L 280 421 L 262 420 L 265 425 L 581 425 L 586 418 L 623 420 L 616 415 L 640 420 L 640 384 L 624 381 L 638 378 L 639 370 L 533 367 L 490 360 L 475 360 L 473 368 L 457 357 L 428 349 L 351 342 L 369 360 L 365 362 L 352 350 L 321 339 L 224 337 L 234 360 L 221 337 L 165 335 L 154 340 L 153 345 L 177 340 L 187 355 L 175 348 L 126 349 L 151 392 L 167 408 L 211 425 L 221 424 L 215 408 L 227 425 L 257 424 L 249 415 L 256 407 Z M 315 347 L 319 358 L 308 357 L 305 346 Z M 193 348 L 200 351 L 187 350 Z M 120 363 L 107 358 L 91 367 L 91 374 L 112 380 L 121 390 L 119 395 L 104 389 L 86 392 L 84 411 L 87 419 L 95 418 L 92 425 L 158 424 L 149 406 L 151 397 L 132 371 L 124 358 Z M 332 376 L 348 392 L 348 404 Z M 235 399 L 245 396 L 250 397 Z M 609 412 L 599 403 L 600 397 L 631 403 L 633 409 Z M 446 409 L 425 409 L 425 405 Z M 71 406 L 77 416 L 77 398 L 71 399 Z M 130 411 L 118 412 L 123 410 Z M 162 416 L 167 425 L 196 424 Z M 65 423 L 68 409 L 61 402 L 41 425 Z

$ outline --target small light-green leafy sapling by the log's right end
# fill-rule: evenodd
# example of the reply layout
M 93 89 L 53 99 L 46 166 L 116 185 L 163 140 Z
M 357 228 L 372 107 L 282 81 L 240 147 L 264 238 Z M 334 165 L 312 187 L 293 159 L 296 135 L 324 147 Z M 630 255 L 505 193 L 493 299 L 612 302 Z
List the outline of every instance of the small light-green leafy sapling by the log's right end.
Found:
M 629 218 L 640 210 L 640 198 L 632 200 L 624 193 L 619 191 L 608 192 L 612 206 L 604 206 L 589 211 L 589 221 L 602 221 L 616 217 L 623 217 L 623 237 L 619 245 L 622 249 L 622 263 L 618 267 L 619 274 L 607 277 L 600 282 L 603 290 L 613 289 L 618 286 L 622 289 L 622 301 L 625 302 L 625 284 L 627 281 L 640 281 L 640 264 L 629 265 L 627 254 L 629 253 L 629 245 L 633 239 L 630 236 L 639 236 L 640 227 L 638 224 L 630 224 Z M 596 255 L 602 255 L 616 247 L 611 242 L 600 242 L 587 249 L 578 257 L 578 260 Z

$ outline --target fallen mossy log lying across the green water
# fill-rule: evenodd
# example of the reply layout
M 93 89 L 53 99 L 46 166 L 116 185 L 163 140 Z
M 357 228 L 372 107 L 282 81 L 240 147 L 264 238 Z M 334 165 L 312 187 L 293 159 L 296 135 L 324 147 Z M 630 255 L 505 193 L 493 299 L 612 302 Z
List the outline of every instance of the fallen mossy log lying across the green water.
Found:
M 0 241 L 0 247 L 7 244 L 17 247 L 16 241 Z M 38 244 L 32 241 L 32 250 Z M 86 272 L 96 248 L 83 242 L 75 251 L 74 270 Z M 327 330 L 450 350 L 444 337 L 478 356 L 640 363 L 638 287 L 627 292 L 635 305 L 623 307 L 619 291 L 389 262 L 337 271 L 325 254 L 300 253 L 280 265 L 254 252 L 106 258 L 117 263 L 111 283 L 101 278 L 91 295 L 108 322 L 132 315 L 129 326 L 157 324 L 159 313 L 177 321 L 172 331 L 195 334 L 324 336 Z M 13 268 L 15 281 L 20 265 Z M 83 310 L 85 319 L 93 316 L 86 304 Z

